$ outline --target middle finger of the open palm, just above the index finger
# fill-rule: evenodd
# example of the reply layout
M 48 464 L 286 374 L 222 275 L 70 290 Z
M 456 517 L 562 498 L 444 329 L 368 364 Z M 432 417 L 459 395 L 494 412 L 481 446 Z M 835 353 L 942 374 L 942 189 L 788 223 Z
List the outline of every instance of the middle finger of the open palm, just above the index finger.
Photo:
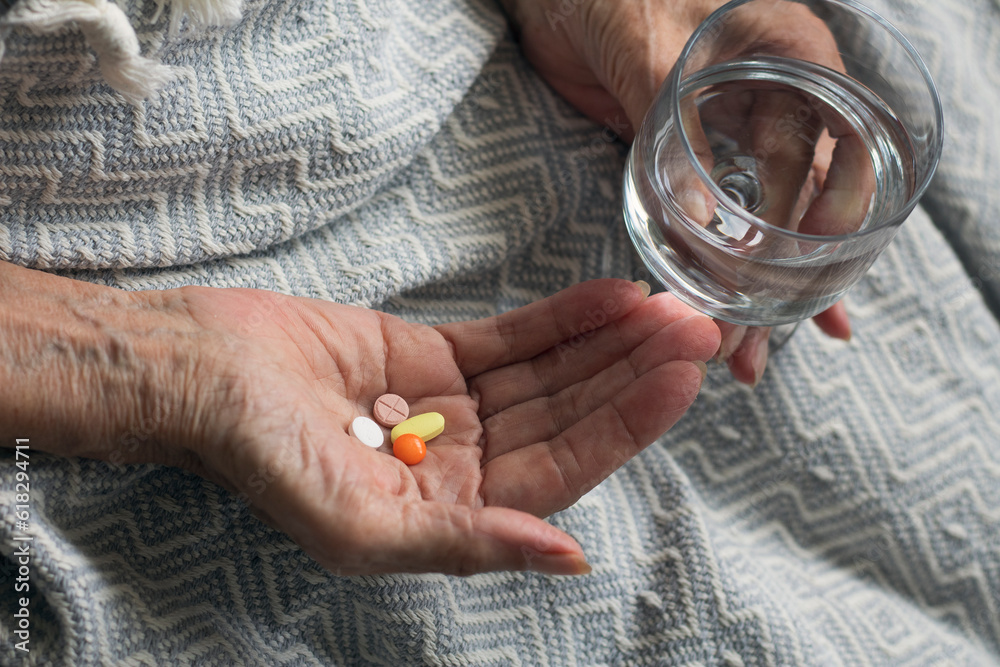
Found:
M 484 462 L 545 442 L 600 409 L 647 372 L 669 361 L 711 358 L 719 329 L 705 316 L 672 322 L 612 366 L 562 391 L 514 405 L 483 423 Z

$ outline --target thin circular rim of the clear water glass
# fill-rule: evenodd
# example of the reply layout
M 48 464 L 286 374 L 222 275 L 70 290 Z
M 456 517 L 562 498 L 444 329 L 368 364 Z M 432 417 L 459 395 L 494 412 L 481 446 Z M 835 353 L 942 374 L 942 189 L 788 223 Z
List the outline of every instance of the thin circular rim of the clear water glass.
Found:
M 724 14 L 727 14 L 733 9 L 736 9 L 740 5 L 745 5 L 750 2 L 762 2 L 765 0 L 731 0 L 726 4 L 722 5 L 708 17 L 701 22 L 701 24 L 695 29 L 688 38 L 687 43 L 681 50 L 680 55 L 677 57 L 677 63 L 673 68 L 673 72 L 670 74 L 670 79 L 668 85 L 670 86 L 670 97 L 671 97 L 671 113 L 675 119 L 681 118 L 681 100 L 680 100 L 680 84 L 681 84 L 681 74 L 684 71 L 684 64 L 687 62 L 691 55 L 691 51 L 694 49 L 695 44 L 698 39 L 708 30 L 714 28 L 714 26 L 721 20 Z M 780 2 L 782 0 L 772 0 L 773 2 Z M 802 0 L 786 0 L 790 2 L 797 2 L 798 4 L 807 4 Z M 698 159 L 694 148 L 691 146 L 691 142 L 688 139 L 688 134 L 684 129 L 683 123 L 678 123 L 679 132 L 677 133 L 681 140 L 681 146 L 684 149 L 684 153 L 687 156 L 689 163 L 694 167 L 695 173 L 698 178 L 701 179 L 702 183 L 707 185 L 709 192 L 712 196 L 722 205 L 725 206 L 726 210 L 730 213 L 738 216 L 744 222 L 754 227 L 758 227 L 767 232 L 775 232 L 779 235 L 787 236 L 789 239 L 794 239 L 796 241 L 808 241 L 811 243 L 838 243 L 842 241 L 849 241 L 858 238 L 863 238 L 871 234 L 875 234 L 889 227 L 898 227 L 901 225 L 910 213 L 915 208 L 920 198 L 923 197 L 924 192 L 926 192 L 927 187 L 930 185 L 931 180 L 934 178 L 934 173 L 937 171 L 938 163 L 941 159 L 941 151 L 944 146 L 944 110 L 941 105 L 941 96 L 938 93 L 937 85 L 934 83 L 934 79 L 931 77 L 930 71 L 927 69 L 927 65 L 924 63 L 920 54 L 917 50 L 913 48 L 910 41 L 889 21 L 883 18 L 880 14 L 875 12 L 875 10 L 866 7 L 854 0 L 811 0 L 812 2 L 825 3 L 829 5 L 840 5 L 846 7 L 857 13 L 864 14 L 868 18 L 872 19 L 877 25 L 881 26 L 883 30 L 889 33 L 896 42 L 903 47 L 903 50 L 909 56 L 910 60 L 916 66 L 917 71 L 923 78 L 924 84 L 927 86 L 927 91 L 930 93 L 931 102 L 934 107 L 934 128 L 936 130 L 936 136 L 931 145 L 933 149 L 933 160 L 931 164 L 927 167 L 927 173 L 924 174 L 923 179 L 920 183 L 916 185 L 913 190 L 913 194 L 906 200 L 906 203 L 900 207 L 899 212 L 883 222 L 867 229 L 862 229 L 854 232 L 848 232 L 846 234 L 805 234 L 803 232 L 792 231 L 785 229 L 784 227 L 778 227 L 772 225 L 771 223 L 758 218 L 752 213 L 749 213 L 745 209 L 739 206 L 729 195 L 727 195 L 718 184 L 709 177 L 708 172 L 701 165 L 701 161 Z M 686 216 L 685 216 L 686 217 Z

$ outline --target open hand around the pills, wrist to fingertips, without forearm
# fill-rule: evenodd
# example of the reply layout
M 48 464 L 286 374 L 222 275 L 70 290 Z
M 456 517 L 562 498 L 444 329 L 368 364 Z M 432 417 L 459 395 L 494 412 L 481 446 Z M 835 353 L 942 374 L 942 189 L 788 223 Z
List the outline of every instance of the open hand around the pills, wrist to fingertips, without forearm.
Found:
M 255 290 L 183 299 L 217 341 L 191 467 L 343 574 L 588 571 L 538 517 L 669 429 L 719 346 L 709 318 L 621 280 L 437 327 Z M 347 433 L 386 392 L 445 417 L 415 466 Z

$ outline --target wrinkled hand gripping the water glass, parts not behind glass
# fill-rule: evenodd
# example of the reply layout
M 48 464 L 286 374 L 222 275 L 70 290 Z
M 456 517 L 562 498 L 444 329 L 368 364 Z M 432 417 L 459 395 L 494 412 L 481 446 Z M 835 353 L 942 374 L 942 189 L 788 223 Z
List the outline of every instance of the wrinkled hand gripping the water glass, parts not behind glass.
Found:
M 724 4 L 720 0 L 502 1 L 518 27 L 525 55 L 541 76 L 581 112 L 627 141 L 635 136 L 688 37 Z M 782 44 L 789 55 L 797 50 L 810 54 L 815 49 L 831 48 L 832 37 L 825 26 L 801 9 L 790 7 L 762 15 L 752 26 L 757 38 Z M 832 57 L 839 61 L 835 47 Z M 831 65 L 836 63 L 831 60 Z M 838 165 L 853 160 L 848 142 L 837 141 L 837 148 L 833 148 L 837 131 L 827 128 L 822 133 L 805 162 L 802 181 L 811 177 L 830 191 L 841 187 L 841 177 L 850 170 Z M 819 196 L 811 203 L 821 209 L 828 200 Z M 828 335 L 850 338 L 842 303 L 814 320 Z M 769 330 L 724 322 L 719 326 L 723 342 L 717 356 L 727 361 L 738 380 L 756 383 L 767 363 Z

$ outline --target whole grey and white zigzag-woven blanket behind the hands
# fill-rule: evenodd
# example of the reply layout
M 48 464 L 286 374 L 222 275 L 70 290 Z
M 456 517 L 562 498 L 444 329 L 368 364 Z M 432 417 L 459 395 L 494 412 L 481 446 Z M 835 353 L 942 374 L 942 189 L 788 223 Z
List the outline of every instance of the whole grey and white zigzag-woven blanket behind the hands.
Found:
M 0 258 L 424 322 L 647 277 L 624 147 L 488 0 L 251 0 L 220 27 L 126 4 L 171 75 L 140 103 L 78 27 L 6 26 Z M 674 429 L 551 518 L 591 574 L 337 577 L 194 475 L 32 452 L 24 652 L 0 449 L 0 662 L 1000 661 L 1000 5 L 874 6 L 941 89 L 938 176 L 851 292 L 850 344 L 803 325 L 754 390 L 713 368 Z

